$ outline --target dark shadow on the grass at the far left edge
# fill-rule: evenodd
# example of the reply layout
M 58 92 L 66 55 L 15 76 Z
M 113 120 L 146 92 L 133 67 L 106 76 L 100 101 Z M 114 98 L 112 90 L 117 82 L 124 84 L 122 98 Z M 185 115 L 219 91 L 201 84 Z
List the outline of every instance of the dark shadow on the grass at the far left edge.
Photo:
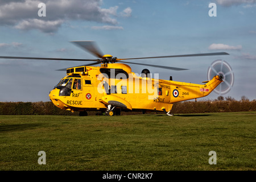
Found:
M 22 130 L 30 130 L 35 129 L 36 127 L 42 124 L 19 124 L 19 125 L 0 125 L 0 132 L 8 132 L 8 131 L 22 131 Z

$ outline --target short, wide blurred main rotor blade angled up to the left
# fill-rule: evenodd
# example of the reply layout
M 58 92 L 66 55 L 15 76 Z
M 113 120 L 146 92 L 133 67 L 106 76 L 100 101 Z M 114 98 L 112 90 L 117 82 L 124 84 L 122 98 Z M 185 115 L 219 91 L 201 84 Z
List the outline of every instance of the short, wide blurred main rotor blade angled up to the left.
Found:
M 100 49 L 97 47 L 96 43 L 93 41 L 71 41 L 71 43 L 76 44 L 76 46 L 79 46 L 86 51 L 92 53 L 93 55 L 103 58 L 104 54 L 100 51 Z

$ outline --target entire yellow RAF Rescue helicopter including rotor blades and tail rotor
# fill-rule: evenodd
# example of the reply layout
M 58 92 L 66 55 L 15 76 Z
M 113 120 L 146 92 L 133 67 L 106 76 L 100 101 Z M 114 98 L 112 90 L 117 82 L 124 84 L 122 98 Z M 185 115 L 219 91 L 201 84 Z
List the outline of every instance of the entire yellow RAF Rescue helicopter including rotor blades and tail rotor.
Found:
M 49 92 L 49 98 L 54 105 L 68 111 L 80 111 L 80 115 L 88 115 L 87 111 L 99 111 L 105 115 L 120 115 L 121 111 L 164 111 L 167 115 L 171 113 L 172 105 L 175 102 L 192 100 L 208 96 L 222 82 L 230 88 L 232 84 L 230 75 L 233 76 L 231 68 L 226 62 L 221 66 L 228 67 L 226 73 L 217 71 L 217 67 L 209 67 L 208 75 L 211 80 L 204 81 L 204 84 L 192 84 L 170 80 L 160 80 L 155 74 L 154 78 L 148 69 L 143 69 L 141 75 L 133 73 L 129 63 L 123 60 L 152 59 L 166 57 L 191 57 L 191 56 L 216 56 L 229 55 L 226 52 L 199 53 L 190 55 L 137 57 L 129 59 L 117 59 L 112 55 L 104 55 L 92 41 L 72 42 L 77 46 L 89 51 L 98 59 L 59 59 L 44 57 L 13 57 L 0 56 L 2 59 L 38 59 L 38 60 L 73 60 L 73 61 L 94 61 L 94 63 L 80 65 L 73 68 L 59 69 L 67 71 L 67 76 Z M 100 67 L 93 65 L 101 64 Z M 150 65 L 141 63 L 129 63 L 147 65 L 176 71 L 186 70 L 184 68 L 166 67 L 161 65 Z M 215 64 L 216 65 L 216 64 Z M 233 78 L 232 78 L 233 79 Z M 226 81 L 228 80 L 228 81 Z M 233 81 L 233 80 L 232 80 Z

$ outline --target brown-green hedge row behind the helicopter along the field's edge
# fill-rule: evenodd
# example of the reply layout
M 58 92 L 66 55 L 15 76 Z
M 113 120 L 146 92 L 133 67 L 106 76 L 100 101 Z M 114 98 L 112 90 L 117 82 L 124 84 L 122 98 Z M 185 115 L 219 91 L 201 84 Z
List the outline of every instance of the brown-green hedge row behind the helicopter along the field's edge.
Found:
M 256 111 L 256 101 L 186 101 L 175 103 L 172 113 L 216 113 Z M 141 114 L 130 112 L 123 114 Z M 79 112 L 61 110 L 52 102 L 0 102 L 0 115 L 78 115 Z M 89 115 L 96 112 L 90 111 Z

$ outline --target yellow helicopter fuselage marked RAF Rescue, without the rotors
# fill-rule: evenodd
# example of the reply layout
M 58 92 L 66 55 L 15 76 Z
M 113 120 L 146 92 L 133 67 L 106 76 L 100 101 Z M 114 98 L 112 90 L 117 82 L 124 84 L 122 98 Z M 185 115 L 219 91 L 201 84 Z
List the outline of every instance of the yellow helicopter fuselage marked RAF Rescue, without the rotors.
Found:
M 67 76 L 49 93 L 53 104 L 64 110 L 104 110 L 112 105 L 169 111 L 175 102 L 208 96 L 222 82 L 219 76 L 204 85 L 139 77 L 125 64 L 84 67 L 84 72 L 74 69 L 67 70 Z

